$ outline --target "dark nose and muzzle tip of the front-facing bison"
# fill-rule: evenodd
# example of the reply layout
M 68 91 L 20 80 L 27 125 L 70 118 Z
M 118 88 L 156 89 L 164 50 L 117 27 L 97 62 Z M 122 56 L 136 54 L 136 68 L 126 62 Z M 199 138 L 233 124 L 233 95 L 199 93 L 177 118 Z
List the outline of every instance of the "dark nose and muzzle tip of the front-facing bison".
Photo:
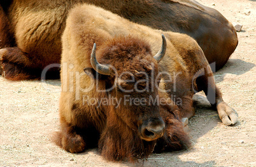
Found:
M 146 141 L 156 140 L 164 135 L 164 121 L 162 119 L 154 119 L 143 123 L 141 126 L 141 138 Z

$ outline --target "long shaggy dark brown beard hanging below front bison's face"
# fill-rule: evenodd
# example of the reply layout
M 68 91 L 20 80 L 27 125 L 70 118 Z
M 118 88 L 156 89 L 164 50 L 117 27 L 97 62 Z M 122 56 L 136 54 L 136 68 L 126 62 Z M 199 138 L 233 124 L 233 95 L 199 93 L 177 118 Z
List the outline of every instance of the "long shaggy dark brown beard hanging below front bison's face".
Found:
M 156 140 L 142 140 L 138 129 L 134 130 L 125 124 L 112 109 L 99 140 L 99 151 L 110 161 L 136 161 L 147 158 L 153 152 L 155 144 Z

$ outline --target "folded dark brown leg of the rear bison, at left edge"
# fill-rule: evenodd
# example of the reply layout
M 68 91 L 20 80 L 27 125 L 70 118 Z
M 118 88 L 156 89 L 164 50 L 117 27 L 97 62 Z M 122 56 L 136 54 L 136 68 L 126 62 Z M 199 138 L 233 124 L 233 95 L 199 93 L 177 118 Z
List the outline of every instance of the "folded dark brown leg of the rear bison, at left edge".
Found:
M 39 79 L 46 65 L 35 55 L 24 53 L 18 47 L 0 50 L 0 74 L 11 81 Z M 59 68 L 51 68 L 45 75 L 46 79 L 59 78 Z

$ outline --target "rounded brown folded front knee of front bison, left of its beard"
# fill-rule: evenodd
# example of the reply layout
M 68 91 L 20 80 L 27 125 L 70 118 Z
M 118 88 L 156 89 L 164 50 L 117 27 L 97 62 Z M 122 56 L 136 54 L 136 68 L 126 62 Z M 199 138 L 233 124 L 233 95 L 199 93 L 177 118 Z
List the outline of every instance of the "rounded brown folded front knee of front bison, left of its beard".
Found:
M 75 137 L 62 138 L 62 147 L 71 153 L 82 152 L 85 150 L 85 141 L 80 135 L 75 135 Z

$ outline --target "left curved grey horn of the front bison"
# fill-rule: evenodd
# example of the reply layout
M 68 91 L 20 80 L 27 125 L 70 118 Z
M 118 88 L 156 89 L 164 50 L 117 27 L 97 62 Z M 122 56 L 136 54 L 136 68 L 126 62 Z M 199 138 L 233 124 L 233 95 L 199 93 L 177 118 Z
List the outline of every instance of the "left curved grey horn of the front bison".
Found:
M 90 64 L 99 72 L 99 74 L 110 75 L 110 67 L 108 65 L 102 65 L 96 60 L 96 43 L 94 43 L 94 47 L 92 48 L 92 53 L 90 54 Z

